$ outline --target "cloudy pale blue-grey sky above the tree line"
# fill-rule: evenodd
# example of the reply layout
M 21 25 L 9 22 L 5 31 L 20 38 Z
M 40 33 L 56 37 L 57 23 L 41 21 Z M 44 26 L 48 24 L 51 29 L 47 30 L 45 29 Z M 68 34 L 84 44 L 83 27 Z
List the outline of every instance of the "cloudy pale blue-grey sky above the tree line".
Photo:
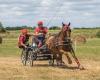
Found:
M 0 0 L 0 21 L 4 26 L 99 27 L 100 0 Z

